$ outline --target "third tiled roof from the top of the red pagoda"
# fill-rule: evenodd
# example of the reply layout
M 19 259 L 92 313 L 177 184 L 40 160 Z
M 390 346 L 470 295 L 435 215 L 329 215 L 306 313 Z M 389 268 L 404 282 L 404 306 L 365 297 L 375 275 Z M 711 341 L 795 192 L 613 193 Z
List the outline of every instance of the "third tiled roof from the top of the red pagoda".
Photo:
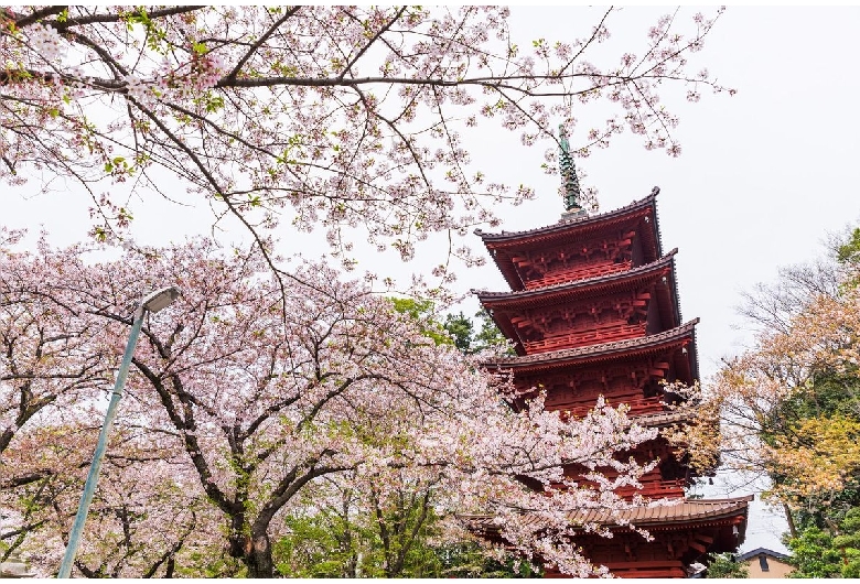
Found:
M 517 355 L 513 357 L 501 357 L 493 361 L 484 363 L 484 367 L 497 367 L 499 369 L 553 369 L 566 367 L 574 363 L 612 360 L 623 356 L 637 355 L 660 350 L 667 346 L 681 342 L 685 337 L 696 343 L 696 325 L 699 318 L 657 333 L 636 338 L 626 338 L 623 340 L 613 340 L 601 343 L 599 345 L 587 345 L 561 350 L 550 350 L 547 353 L 536 353 L 533 355 Z M 691 359 L 691 374 L 698 378 L 697 359 Z

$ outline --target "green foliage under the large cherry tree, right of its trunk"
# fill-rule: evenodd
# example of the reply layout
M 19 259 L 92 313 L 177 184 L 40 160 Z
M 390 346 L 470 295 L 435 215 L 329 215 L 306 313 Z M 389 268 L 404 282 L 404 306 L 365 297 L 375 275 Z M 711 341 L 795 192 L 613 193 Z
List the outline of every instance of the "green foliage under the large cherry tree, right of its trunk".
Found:
M 331 483 L 334 483 L 332 480 Z M 273 552 L 290 577 L 529 577 L 527 562 L 495 556 L 464 531 L 447 536 L 432 489 L 401 486 L 385 508 L 343 480 L 340 499 L 298 511 Z M 319 501 L 319 498 L 316 498 Z M 369 502 L 369 505 L 368 505 Z

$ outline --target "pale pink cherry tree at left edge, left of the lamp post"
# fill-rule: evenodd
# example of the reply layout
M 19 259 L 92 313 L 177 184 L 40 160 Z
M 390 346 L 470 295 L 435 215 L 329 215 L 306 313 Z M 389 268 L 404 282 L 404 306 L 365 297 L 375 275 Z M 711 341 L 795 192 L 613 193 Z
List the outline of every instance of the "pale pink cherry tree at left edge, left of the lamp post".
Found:
M 101 326 L 75 302 L 84 282 L 64 274 L 80 268 L 79 250 L 61 258 L 40 241 L 36 260 L 7 247 L 20 237 L 0 228 L 0 455 L 25 424 L 104 383 L 111 360 L 99 346 Z M 17 465 L 0 458 L 0 488 L 51 474 L 37 458 Z

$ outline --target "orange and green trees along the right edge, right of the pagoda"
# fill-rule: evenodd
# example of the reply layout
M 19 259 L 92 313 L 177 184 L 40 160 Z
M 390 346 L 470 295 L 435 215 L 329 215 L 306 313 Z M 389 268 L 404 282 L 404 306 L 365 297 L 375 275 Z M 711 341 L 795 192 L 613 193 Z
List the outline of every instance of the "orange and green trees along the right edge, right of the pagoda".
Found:
M 831 258 L 749 294 L 756 344 L 711 388 L 723 462 L 766 475 L 765 497 L 785 508 L 793 577 L 856 577 L 860 566 L 859 241 L 853 229 Z

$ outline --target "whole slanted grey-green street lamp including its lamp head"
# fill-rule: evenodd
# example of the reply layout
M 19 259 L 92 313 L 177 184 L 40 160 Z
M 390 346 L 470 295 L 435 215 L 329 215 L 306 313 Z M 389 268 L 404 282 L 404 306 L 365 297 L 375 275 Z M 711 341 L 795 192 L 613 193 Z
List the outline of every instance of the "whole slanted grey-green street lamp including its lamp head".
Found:
M 101 468 L 101 459 L 105 457 L 105 450 L 107 448 L 107 437 L 110 433 L 110 428 L 114 425 L 114 418 L 117 415 L 119 400 L 122 398 L 122 387 L 126 385 L 126 377 L 128 376 L 128 369 L 131 366 L 131 358 L 135 356 L 135 347 L 138 344 L 138 336 L 140 335 L 140 327 L 143 324 L 143 316 L 148 312 L 154 314 L 160 310 L 170 306 L 179 296 L 180 291 L 178 288 L 163 288 L 143 296 L 138 304 L 138 307 L 135 310 L 135 320 L 131 325 L 128 344 L 126 345 L 126 353 L 122 355 L 122 364 L 119 366 L 119 371 L 117 371 L 114 394 L 110 397 L 110 403 L 108 404 L 107 412 L 105 412 L 105 422 L 101 424 L 101 432 L 98 435 L 98 444 L 96 445 L 96 452 L 93 455 L 93 464 L 89 465 L 87 482 L 86 485 L 84 485 L 84 494 L 80 496 L 80 504 L 78 504 L 77 507 L 75 523 L 72 526 L 72 532 L 68 534 L 66 553 L 63 555 L 63 563 L 60 565 L 60 572 L 56 577 L 69 577 L 72 574 L 72 564 L 75 561 L 75 553 L 77 553 L 77 548 L 80 544 L 80 533 L 84 531 L 84 523 L 86 523 L 87 520 L 89 504 L 93 502 L 93 495 L 96 491 L 98 472 Z

